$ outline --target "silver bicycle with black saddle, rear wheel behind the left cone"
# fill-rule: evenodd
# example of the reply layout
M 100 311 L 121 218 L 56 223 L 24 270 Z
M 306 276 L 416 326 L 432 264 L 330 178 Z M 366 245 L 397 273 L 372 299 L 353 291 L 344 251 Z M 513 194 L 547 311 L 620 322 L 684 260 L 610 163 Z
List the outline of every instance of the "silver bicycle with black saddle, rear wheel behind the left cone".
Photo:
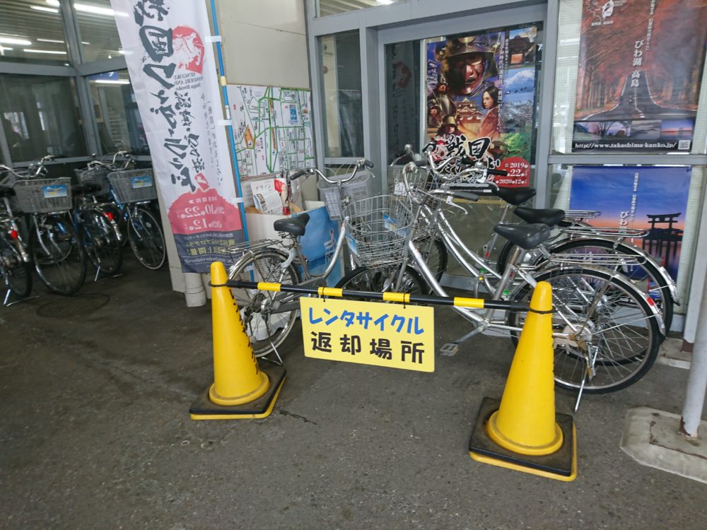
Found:
M 349 196 L 346 195 L 344 185 L 354 182 L 358 171 L 363 167 L 373 167 L 373 163 L 365 159 L 358 160 L 351 175 L 341 179 L 329 179 L 317 169 L 297 171 L 290 179 L 295 180 L 303 175 L 318 175 L 329 184 L 339 187 L 339 199 L 342 204 L 346 204 Z M 308 220 L 307 213 L 276 220 L 274 229 L 279 232 L 281 240 L 245 242 L 224 249 L 232 262 L 228 268 L 228 279 L 303 286 L 326 285 L 327 278 L 341 257 L 348 223 L 346 220 L 341 223 L 337 242 L 325 271 L 314 274 L 309 269 L 298 239 L 304 235 Z M 299 305 L 296 295 L 243 289 L 233 290 L 233 295 L 242 313 L 255 355 L 263 357 L 273 351 L 277 353 L 277 347 L 288 336 L 297 317 Z

